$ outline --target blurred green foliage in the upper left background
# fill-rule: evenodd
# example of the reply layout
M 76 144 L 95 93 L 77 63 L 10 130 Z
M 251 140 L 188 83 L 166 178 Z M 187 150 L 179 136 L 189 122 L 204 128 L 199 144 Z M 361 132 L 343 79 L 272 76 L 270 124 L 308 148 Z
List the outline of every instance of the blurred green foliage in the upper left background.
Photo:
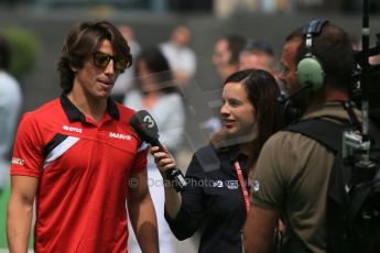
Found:
M 35 68 L 41 52 L 40 42 L 33 32 L 18 26 L 6 28 L 0 33 L 11 46 L 11 73 L 21 79 Z

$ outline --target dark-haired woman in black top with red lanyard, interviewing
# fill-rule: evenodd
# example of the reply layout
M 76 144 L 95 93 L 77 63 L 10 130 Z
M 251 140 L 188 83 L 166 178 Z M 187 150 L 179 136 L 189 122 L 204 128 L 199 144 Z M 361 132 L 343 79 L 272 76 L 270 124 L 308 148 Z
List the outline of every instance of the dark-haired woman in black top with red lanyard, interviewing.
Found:
M 199 251 L 242 252 L 241 230 L 249 209 L 247 178 L 267 139 L 278 130 L 279 87 L 268 72 L 241 70 L 222 90 L 222 129 L 198 150 L 187 168 L 187 187 L 165 184 L 165 218 L 178 240 L 200 229 Z M 175 160 L 151 147 L 164 179 Z

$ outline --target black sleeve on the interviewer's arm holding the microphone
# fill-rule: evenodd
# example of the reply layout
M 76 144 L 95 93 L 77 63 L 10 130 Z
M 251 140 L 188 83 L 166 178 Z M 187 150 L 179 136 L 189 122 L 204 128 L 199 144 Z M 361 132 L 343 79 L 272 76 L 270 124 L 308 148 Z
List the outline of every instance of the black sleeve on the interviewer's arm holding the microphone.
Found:
M 182 205 L 175 219 L 171 219 L 165 209 L 165 219 L 171 228 L 173 234 L 178 240 L 185 240 L 192 237 L 199 228 L 204 218 L 205 207 L 203 204 L 204 193 L 199 187 L 202 180 L 203 168 L 196 156 L 188 166 L 186 173 L 187 187 L 182 193 Z

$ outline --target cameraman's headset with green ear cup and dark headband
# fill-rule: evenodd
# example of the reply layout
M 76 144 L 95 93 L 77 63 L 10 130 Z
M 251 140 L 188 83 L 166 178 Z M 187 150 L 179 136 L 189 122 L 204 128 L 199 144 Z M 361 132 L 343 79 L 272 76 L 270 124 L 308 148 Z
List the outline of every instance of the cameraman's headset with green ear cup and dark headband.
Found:
M 311 86 L 312 91 L 317 91 L 323 87 L 326 75 L 322 62 L 312 53 L 313 36 L 318 35 L 327 23 L 328 20 L 317 19 L 303 29 L 307 53 L 297 64 L 296 76 L 301 87 Z

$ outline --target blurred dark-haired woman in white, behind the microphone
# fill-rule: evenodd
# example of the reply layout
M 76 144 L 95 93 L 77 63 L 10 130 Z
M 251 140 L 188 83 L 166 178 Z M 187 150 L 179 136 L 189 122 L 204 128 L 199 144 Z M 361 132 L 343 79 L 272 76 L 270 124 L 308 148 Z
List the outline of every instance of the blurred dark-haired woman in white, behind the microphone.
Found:
M 176 153 L 185 128 L 184 106 L 170 65 L 158 47 L 142 50 L 135 59 L 135 76 L 124 106 L 149 111 L 156 121 L 160 141 Z M 152 156 L 148 157 L 148 178 L 159 224 L 160 252 L 174 253 L 173 235 L 164 219 L 163 179 Z M 129 252 L 141 252 L 133 235 L 129 240 Z

